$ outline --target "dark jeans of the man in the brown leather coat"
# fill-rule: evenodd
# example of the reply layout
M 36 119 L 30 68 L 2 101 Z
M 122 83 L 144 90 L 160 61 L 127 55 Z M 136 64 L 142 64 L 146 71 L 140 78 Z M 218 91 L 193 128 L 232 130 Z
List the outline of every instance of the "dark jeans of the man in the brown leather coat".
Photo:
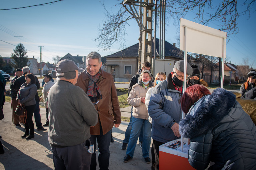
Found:
M 111 130 L 109 130 L 106 134 L 103 135 L 102 127 L 100 125 L 100 135 L 91 135 L 91 142 L 94 144 L 94 152 L 92 154 L 91 167 L 90 170 L 96 170 L 97 160 L 96 160 L 96 139 L 98 143 L 98 151 L 99 151 L 99 167 L 100 170 L 108 170 L 109 165 L 109 145 L 111 139 Z

